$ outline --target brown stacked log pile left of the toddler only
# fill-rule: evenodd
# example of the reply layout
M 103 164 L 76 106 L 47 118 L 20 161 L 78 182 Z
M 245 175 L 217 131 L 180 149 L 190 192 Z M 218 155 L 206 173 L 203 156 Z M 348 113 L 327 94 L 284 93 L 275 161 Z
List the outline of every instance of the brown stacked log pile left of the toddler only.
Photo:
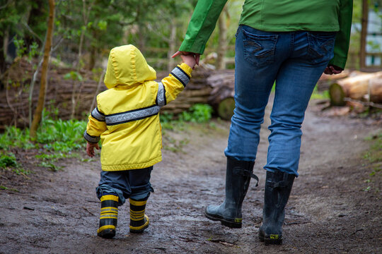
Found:
M 58 118 L 70 119 L 73 105 L 74 118 L 84 119 L 88 114 L 93 97 L 96 95 L 98 82 L 93 80 L 93 73 L 81 71 L 82 82 L 74 80 L 65 80 L 64 75 L 75 71 L 72 68 L 56 68 L 51 66 L 48 73 L 48 85 L 45 95 L 45 108 L 49 111 L 58 109 Z M 0 102 L 0 129 L 8 125 L 17 127 L 27 127 L 29 125 L 29 87 L 33 77 L 34 70 L 32 64 L 21 59 L 4 73 L 1 83 L 0 96 L 4 99 Z M 37 104 L 38 92 L 40 87 L 40 73 L 33 89 L 32 109 L 35 110 Z M 103 85 L 103 90 L 106 87 Z M 76 91 L 72 100 L 72 92 Z M 102 91 L 102 90 L 101 90 Z

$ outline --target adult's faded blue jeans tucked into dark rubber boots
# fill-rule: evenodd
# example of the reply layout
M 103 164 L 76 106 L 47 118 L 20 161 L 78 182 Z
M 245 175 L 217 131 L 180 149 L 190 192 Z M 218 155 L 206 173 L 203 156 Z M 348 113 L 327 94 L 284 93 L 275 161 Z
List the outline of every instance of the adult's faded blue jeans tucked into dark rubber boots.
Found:
M 256 159 L 260 125 L 274 82 L 268 171 L 298 176 L 301 123 L 308 101 L 333 57 L 335 32 L 265 32 L 241 25 L 236 33 L 235 103 L 227 157 Z

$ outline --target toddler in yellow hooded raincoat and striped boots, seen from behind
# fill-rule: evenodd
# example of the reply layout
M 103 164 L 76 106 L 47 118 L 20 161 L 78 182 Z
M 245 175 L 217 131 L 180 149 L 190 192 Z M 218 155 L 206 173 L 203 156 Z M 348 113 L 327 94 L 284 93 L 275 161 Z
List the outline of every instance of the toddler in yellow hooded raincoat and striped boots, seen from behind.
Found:
M 118 206 L 129 198 L 131 233 L 149 226 L 146 201 L 154 189 L 150 184 L 153 165 L 161 162 L 159 110 L 175 99 L 190 81 L 195 56 L 182 55 L 183 63 L 160 83 L 156 71 L 146 63 L 137 47 L 125 45 L 110 51 L 105 85 L 97 96 L 97 107 L 88 116 L 84 133 L 86 153 L 102 150 L 102 171 L 96 193 L 101 201 L 98 236 L 112 238 L 117 226 Z

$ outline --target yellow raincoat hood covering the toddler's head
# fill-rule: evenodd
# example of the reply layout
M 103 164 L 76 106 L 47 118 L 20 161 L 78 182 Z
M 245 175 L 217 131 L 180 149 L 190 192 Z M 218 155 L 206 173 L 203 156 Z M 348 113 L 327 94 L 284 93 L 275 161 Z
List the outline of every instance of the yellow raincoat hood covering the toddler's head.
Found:
M 109 89 L 117 85 L 137 85 L 156 79 L 156 71 L 147 64 L 137 47 L 125 45 L 110 50 L 105 85 Z

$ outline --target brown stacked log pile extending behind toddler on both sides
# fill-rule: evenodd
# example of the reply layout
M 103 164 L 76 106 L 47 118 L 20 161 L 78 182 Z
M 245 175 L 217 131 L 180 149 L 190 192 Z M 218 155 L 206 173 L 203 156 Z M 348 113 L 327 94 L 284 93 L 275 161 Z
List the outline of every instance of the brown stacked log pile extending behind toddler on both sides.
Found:
M 86 119 L 89 112 L 96 107 L 93 100 L 99 92 L 106 89 L 103 82 L 98 83 L 100 73 L 93 74 L 81 71 L 82 81 L 65 79 L 64 76 L 73 68 L 62 68 L 51 65 L 48 73 L 48 85 L 45 97 L 45 109 L 58 109 L 57 118 L 71 119 L 74 106 L 74 118 Z M 33 77 L 32 64 L 21 59 L 13 63 L 1 78 L 0 96 L 0 130 L 13 125 L 21 128 L 28 127 L 29 86 Z M 163 74 L 168 75 L 168 73 Z M 216 112 L 222 112 L 223 119 L 229 119 L 233 112 L 233 71 L 211 71 L 197 68 L 192 72 L 192 78 L 185 90 L 177 99 L 163 107 L 162 111 L 179 114 L 197 103 L 211 104 Z M 161 76 L 158 74 L 158 77 Z M 158 78 L 160 80 L 160 78 Z M 102 81 L 102 80 L 101 80 Z M 40 87 L 40 74 L 37 75 L 33 89 L 32 109 L 37 104 Z M 72 97 L 74 91 L 74 98 Z M 226 105 L 219 109 L 221 103 Z M 234 104 L 233 104 L 234 105 Z M 224 111 L 225 110 L 225 111 Z

